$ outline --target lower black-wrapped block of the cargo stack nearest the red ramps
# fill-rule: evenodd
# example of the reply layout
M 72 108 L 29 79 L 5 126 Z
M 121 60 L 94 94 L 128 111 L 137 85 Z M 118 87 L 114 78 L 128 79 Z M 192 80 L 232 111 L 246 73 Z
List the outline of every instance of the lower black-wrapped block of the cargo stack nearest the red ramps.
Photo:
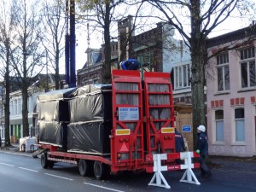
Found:
M 112 125 L 103 121 L 67 126 L 67 150 L 77 153 L 109 154 Z

